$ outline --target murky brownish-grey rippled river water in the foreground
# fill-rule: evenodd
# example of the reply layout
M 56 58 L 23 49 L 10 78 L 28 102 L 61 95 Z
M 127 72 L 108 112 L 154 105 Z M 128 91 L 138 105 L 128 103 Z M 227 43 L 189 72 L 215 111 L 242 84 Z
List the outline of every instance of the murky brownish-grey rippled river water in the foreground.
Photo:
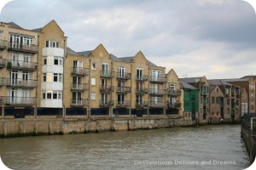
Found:
M 12 169 L 225 169 L 249 166 L 239 125 L 0 139 Z

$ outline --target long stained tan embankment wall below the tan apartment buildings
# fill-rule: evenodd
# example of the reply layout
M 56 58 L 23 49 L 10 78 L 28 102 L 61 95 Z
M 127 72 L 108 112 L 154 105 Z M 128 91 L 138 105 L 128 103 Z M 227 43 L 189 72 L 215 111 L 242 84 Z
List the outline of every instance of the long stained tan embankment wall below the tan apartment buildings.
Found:
M 2 119 L 0 136 L 32 136 L 47 134 L 97 133 L 103 131 L 122 131 L 151 129 L 161 127 L 191 126 L 193 122 L 183 119 Z

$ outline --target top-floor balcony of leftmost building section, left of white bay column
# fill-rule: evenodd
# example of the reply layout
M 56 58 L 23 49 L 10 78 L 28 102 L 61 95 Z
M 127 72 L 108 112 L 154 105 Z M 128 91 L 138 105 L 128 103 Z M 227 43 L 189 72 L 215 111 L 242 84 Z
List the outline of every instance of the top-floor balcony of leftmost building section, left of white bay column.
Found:
M 22 52 L 22 53 L 37 54 L 38 45 L 34 45 L 34 44 L 27 45 L 27 44 L 21 44 L 20 42 L 9 42 L 8 50 Z

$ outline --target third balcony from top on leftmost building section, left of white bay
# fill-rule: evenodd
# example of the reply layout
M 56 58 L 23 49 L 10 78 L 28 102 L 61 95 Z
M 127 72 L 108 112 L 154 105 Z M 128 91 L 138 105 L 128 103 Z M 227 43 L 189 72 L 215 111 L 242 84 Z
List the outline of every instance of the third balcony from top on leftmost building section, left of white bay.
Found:
M 37 88 L 38 82 L 35 80 L 7 79 L 6 86 L 10 88 Z

